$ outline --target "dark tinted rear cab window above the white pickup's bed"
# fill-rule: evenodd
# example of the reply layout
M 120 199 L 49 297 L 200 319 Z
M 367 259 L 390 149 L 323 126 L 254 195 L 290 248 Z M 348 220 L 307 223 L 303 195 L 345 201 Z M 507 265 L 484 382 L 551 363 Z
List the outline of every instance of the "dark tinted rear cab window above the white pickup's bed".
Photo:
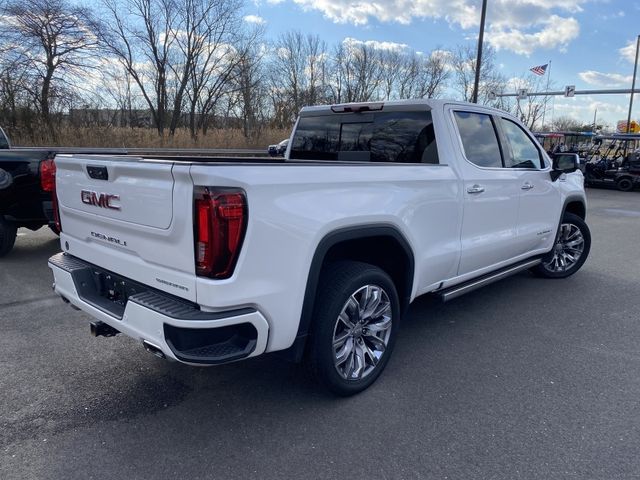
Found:
M 439 163 L 429 111 L 301 116 L 289 159 Z

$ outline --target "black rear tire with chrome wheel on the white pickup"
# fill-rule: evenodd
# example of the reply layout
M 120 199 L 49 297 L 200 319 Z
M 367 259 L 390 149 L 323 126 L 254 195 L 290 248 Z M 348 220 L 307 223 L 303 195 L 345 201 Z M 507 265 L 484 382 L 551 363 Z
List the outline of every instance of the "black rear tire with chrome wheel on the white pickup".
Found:
M 366 286 L 369 286 L 369 290 L 365 289 Z M 352 296 L 357 296 L 357 299 L 363 301 L 365 299 L 363 295 L 367 296 L 369 292 L 372 292 L 369 296 L 370 299 L 381 299 L 378 300 L 375 307 L 372 303 L 365 304 L 374 310 L 369 317 L 371 321 L 361 320 L 360 323 L 353 322 L 353 328 L 347 327 L 346 323 L 338 319 L 343 308 L 350 309 L 347 307 L 347 302 Z M 360 304 L 352 302 L 351 309 L 355 312 L 354 305 Z M 379 310 L 384 311 L 376 316 Z M 366 315 L 361 315 L 361 310 L 358 312 L 357 318 L 368 318 Z M 389 315 L 390 320 L 388 319 Z M 356 318 L 350 315 L 348 317 L 349 320 Z M 375 321 L 376 319 L 379 321 Z M 377 329 L 383 324 L 390 325 L 388 330 L 373 333 L 375 330 L 366 327 L 366 325 L 376 325 Z M 307 351 L 307 360 L 314 377 L 336 395 L 349 396 L 365 390 L 375 382 L 386 367 L 393 351 L 399 324 L 400 301 L 395 285 L 386 272 L 367 263 L 352 261 L 341 261 L 328 265 L 320 278 Z M 334 335 L 340 336 L 340 334 L 351 340 L 346 340 L 342 347 L 334 347 Z M 383 348 L 382 353 L 379 351 L 382 346 L 378 335 L 382 336 L 382 342 L 386 338 L 386 347 Z M 373 341 L 373 337 L 375 337 L 375 341 Z M 336 365 L 338 353 L 341 350 L 348 351 L 349 346 L 351 346 L 352 353 L 345 355 L 344 363 Z M 361 353 L 362 356 L 359 357 L 357 353 Z M 373 355 L 371 355 L 372 353 Z M 380 353 L 380 357 L 376 357 L 378 353 Z M 374 361 L 374 357 L 376 357 L 376 361 Z M 364 361 L 364 366 L 360 378 L 357 378 L 358 369 L 353 369 L 356 368 L 359 361 Z M 345 372 L 341 374 L 338 369 L 342 369 L 343 366 Z M 349 376 L 355 376 L 355 378 L 347 378 Z

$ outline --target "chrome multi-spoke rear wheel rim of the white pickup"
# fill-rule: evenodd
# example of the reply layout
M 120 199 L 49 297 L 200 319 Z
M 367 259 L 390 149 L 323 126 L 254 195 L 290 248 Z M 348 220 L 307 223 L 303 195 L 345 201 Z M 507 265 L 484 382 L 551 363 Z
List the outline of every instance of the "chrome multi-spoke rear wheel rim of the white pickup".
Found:
M 362 380 L 385 353 L 393 321 L 383 288 L 365 285 L 351 295 L 333 330 L 333 363 L 346 380 Z

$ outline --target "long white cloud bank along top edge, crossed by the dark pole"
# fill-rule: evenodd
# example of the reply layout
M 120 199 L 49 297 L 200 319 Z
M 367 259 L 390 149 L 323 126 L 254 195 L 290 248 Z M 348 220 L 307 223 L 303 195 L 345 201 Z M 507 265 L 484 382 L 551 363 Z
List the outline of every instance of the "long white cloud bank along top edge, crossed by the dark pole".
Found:
M 444 19 L 462 29 L 477 28 L 476 0 L 291 0 L 317 10 L 336 23 L 366 25 L 372 20 L 409 24 L 415 19 Z M 564 49 L 579 33 L 575 18 L 588 0 L 493 0 L 487 16 L 487 41 L 496 48 L 530 55 L 545 48 Z M 562 16 L 565 15 L 565 16 Z

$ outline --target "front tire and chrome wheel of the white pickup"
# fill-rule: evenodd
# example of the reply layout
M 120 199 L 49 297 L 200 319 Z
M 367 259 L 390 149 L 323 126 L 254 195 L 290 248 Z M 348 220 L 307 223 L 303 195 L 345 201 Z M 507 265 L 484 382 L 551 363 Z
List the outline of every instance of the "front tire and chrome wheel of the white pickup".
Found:
M 571 232 L 575 233 L 576 230 L 580 232 L 583 240 L 580 256 L 569 267 L 565 265 L 564 269 L 562 269 L 557 260 L 558 256 L 561 256 L 563 253 L 566 253 L 568 256 L 575 256 L 573 247 L 576 247 L 576 245 L 572 244 L 576 242 L 576 237 L 572 237 L 573 234 Z M 535 275 L 543 278 L 567 278 L 580 270 L 587 260 L 590 250 L 591 232 L 585 221 L 573 213 L 565 213 L 562 217 L 558 233 L 556 234 L 553 249 L 543 257 L 542 263 L 533 267 L 531 271 Z

